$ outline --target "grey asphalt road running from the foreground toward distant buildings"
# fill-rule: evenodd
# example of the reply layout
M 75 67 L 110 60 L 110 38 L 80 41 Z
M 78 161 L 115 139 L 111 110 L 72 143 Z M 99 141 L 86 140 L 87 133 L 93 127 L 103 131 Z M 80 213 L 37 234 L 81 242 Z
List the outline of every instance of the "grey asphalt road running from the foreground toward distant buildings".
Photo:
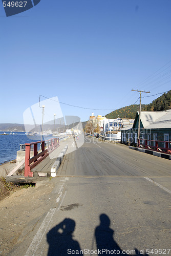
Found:
M 53 178 L 49 210 L 10 255 L 171 255 L 170 164 L 86 136 Z

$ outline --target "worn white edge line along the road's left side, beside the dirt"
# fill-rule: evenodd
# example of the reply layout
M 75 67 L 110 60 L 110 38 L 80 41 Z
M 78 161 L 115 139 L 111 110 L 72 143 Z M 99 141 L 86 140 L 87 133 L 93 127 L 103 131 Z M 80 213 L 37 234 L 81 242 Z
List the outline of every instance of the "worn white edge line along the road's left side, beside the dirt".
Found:
M 66 180 L 69 180 L 69 178 L 66 177 L 66 178 L 65 178 L 65 181 L 66 181 Z M 59 197 L 56 199 L 56 202 L 59 202 L 60 198 L 62 197 L 62 191 L 61 191 L 61 190 L 63 190 L 63 185 L 64 185 L 64 184 L 65 184 L 65 183 L 63 183 L 63 184 L 61 185 L 61 187 L 60 187 L 60 190 L 59 190 L 60 195 L 59 195 Z M 59 193 L 58 193 L 58 194 L 59 194 Z M 55 211 L 56 211 L 56 210 L 58 211 L 58 210 L 60 209 L 60 206 L 61 206 L 61 204 L 62 204 L 62 202 L 63 202 L 63 200 L 64 200 L 66 194 L 67 194 L 67 191 L 65 191 L 65 194 L 63 195 L 63 197 L 62 197 L 62 199 L 61 199 L 61 202 L 60 202 L 60 204 L 58 205 L 57 208 L 53 208 L 53 209 L 50 209 L 50 210 L 48 211 L 48 213 L 47 213 L 47 215 L 46 215 L 44 221 L 41 223 L 41 225 L 40 225 L 40 227 L 39 227 L 39 229 L 38 229 L 38 231 L 37 231 L 35 237 L 33 238 L 32 242 L 31 242 L 31 244 L 30 244 L 30 246 L 29 246 L 29 248 L 28 248 L 28 250 L 27 250 L 27 252 L 26 252 L 26 254 L 25 254 L 25 256 L 33 256 L 33 255 L 35 254 L 35 252 L 37 251 L 37 249 L 38 249 L 38 247 L 39 247 L 39 244 L 40 244 L 42 238 L 44 237 L 45 232 L 47 231 L 47 228 L 48 228 L 48 226 L 49 226 L 49 224 L 50 224 L 50 222 L 51 222 L 51 220 L 52 220 L 52 217 L 53 217 Z

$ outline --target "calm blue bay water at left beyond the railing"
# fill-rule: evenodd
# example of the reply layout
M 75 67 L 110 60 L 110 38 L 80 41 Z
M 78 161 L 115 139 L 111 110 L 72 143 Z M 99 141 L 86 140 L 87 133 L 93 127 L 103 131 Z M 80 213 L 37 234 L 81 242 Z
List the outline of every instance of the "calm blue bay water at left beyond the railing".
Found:
M 0 164 L 16 159 L 20 144 L 37 141 L 28 138 L 24 132 L 12 132 L 11 135 L 10 132 L 5 132 L 7 135 L 1 135 L 3 133 L 0 132 Z

